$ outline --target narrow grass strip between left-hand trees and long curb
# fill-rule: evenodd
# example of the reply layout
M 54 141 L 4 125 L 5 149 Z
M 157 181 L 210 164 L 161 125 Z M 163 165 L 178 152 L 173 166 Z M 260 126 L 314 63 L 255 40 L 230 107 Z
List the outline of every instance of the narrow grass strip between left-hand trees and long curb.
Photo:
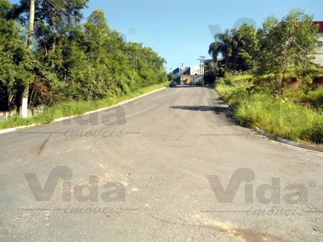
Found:
M 131 99 L 133 97 L 140 96 L 142 94 L 151 92 L 153 90 L 157 90 L 163 87 L 167 87 L 169 83 L 161 83 L 155 84 L 152 86 L 140 88 L 130 94 L 125 94 L 120 97 L 112 97 L 112 98 L 105 98 L 100 100 L 90 100 L 90 101 L 72 101 L 72 102 L 65 102 L 55 106 L 47 107 L 45 111 L 41 114 L 22 118 L 19 115 L 14 115 L 9 119 L 0 122 L 0 130 L 25 126 L 25 125 L 41 125 L 41 124 L 48 124 L 53 120 L 64 117 L 64 116 L 71 116 L 71 115 L 78 115 L 88 111 L 96 110 L 103 107 L 109 107 L 119 102 Z

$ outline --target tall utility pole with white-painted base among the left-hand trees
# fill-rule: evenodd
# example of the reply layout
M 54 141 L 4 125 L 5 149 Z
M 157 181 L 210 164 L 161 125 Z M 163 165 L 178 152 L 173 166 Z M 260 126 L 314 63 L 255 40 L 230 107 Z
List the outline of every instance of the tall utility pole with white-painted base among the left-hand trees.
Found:
M 28 33 L 28 42 L 27 42 L 27 48 L 29 51 L 32 51 L 34 19 L 35 19 L 35 0 L 30 0 L 29 33 Z M 22 103 L 20 107 L 20 115 L 23 117 L 28 116 L 28 92 L 29 92 L 29 83 L 27 83 L 25 86 L 23 96 L 22 96 Z

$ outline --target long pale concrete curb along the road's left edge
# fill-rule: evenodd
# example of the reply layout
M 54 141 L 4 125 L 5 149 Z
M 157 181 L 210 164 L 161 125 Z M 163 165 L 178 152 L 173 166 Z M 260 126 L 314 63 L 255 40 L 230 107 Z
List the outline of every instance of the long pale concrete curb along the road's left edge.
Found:
M 106 109 L 109 109 L 109 108 L 113 108 L 113 107 L 117 107 L 117 106 L 120 106 L 120 105 L 123 105 L 125 103 L 128 103 L 128 102 L 131 102 L 131 101 L 134 101 L 138 98 L 141 98 L 141 97 L 144 97 L 144 96 L 147 96 L 149 94 L 152 94 L 152 93 L 155 93 L 155 92 L 158 92 L 158 91 L 161 91 L 161 90 L 164 90 L 166 89 L 166 87 L 163 87 L 163 88 L 160 88 L 160 89 L 156 89 L 156 90 L 153 90 L 151 92 L 147 92 L 145 94 L 142 94 L 142 95 L 139 95 L 137 97 L 133 97 L 131 99 L 128 99 L 128 100 L 125 100 L 125 101 L 122 101 L 122 102 L 119 102 L 117 104 L 114 104 L 112 106 L 109 106 L 109 107 L 103 107 L 103 108 L 100 108 L 100 109 L 96 109 L 96 110 L 92 110 L 92 111 L 89 111 L 89 112 L 85 112 L 85 113 L 82 113 L 82 114 L 77 114 L 77 115 L 72 115 L 72 116 L 68 116 L 68 117 L 60 117 L 60 118 L 57 118 L 55 120 L 53 120 L 52 122 L 48 123 L 48 124 L 52 124 L 52 123 L 56 123 L 56 122 L 60 122 L 60 121 L 63 121 L 63 120 L 66 120 L 66 119 L 70 119 L 70 118 L 73 118 L 73 117 L 77 117 L 77 116 L 81 116 L 81 115 L 86 115 L 86 114 L 91 114 L 91 113 L 95 113 L 95 112 L 101 112 L 101 111 L 104 111 Z M 41 124 L 42 125 L 42 124 Z M 14 131 L 17 131 L 17 130 L 22 130 L 22 129 L 27 129 L 27 128 L 31 128 L 31 127 L 35 127 L 35 126 L 41 126 L 41 125 L 37 125 L 37 124 L 32 124 L 32 125 L 26 125 L 26 126 L 19 126 L 19 127 L 14 127 L 14 128 L 10 128 L 10 129 L 5 129 L 5 130 L 0 130 L 0 135 L 1 134 L 6 134 L 6 133 L 10 133 L 10 132 L 14 132 Z

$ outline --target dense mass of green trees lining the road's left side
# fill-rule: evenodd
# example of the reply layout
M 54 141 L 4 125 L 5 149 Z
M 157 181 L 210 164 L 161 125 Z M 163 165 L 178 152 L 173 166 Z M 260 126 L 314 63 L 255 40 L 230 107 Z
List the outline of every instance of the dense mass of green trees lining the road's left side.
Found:
M 33 108 L 105 103 L 168 81 L 165 59 L 142 43 L 125 42 L 110 29 L 103 11 L 95 10 L 81 23 L 88 0 L 36 1 L 33 49 L 27 50 L 29 3 L 12 6 L 0 0 L 0 111 L 19 108 L 25 88 Z

